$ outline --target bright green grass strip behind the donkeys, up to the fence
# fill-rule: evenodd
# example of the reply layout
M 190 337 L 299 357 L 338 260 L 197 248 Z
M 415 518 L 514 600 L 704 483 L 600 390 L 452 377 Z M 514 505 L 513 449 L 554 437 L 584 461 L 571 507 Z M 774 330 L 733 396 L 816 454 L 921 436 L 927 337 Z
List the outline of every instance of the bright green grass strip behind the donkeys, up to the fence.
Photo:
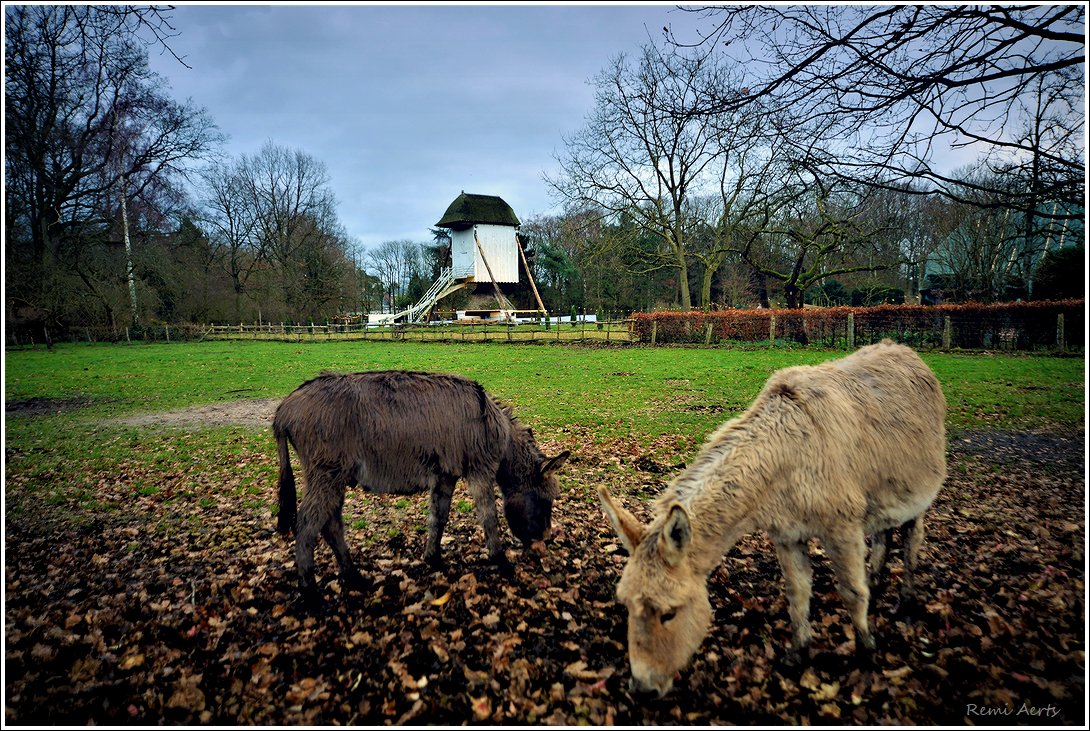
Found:
M 706 432 L 746 407 L 768 375 L 843 353 L 810 350 L 569 348 L 428 343 L 216 342 L 62 345 L 7 354 L 5 401 L 80 401 L 80 418 L 232 399 L 280 398 L 330 370 L 458 373 L 512 403 L 525 422 L 596 434 Z M 1066 429 L 1081 423 L 1085 360 L 925 353 L 949 403 L 948 426 Z

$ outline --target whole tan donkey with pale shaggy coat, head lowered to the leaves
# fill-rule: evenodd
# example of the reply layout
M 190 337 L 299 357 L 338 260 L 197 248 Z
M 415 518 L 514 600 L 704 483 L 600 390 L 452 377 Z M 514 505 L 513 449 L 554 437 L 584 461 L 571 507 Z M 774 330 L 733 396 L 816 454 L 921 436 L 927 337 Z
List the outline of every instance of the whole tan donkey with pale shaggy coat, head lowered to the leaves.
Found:
M 808 540 L 828 555 L 851 614 L 857 649 L 874 648 L 868 623 L 867 536 L 881 582 L 893 529 L 903 528 L 901 597 L 923 543 L 923 513 L 946 477 L 946 402 L 934 374 L 889 340 L 770 377 L 750 407 L 712 434 L 643 525 L 598 488 L 629 552 L 617 597 L 628 607 L 633 690 L 665 695 L 707 635 L 707 576 L 738 540 L 768 534 L 783 569 L 792 647 L 812 632 Z

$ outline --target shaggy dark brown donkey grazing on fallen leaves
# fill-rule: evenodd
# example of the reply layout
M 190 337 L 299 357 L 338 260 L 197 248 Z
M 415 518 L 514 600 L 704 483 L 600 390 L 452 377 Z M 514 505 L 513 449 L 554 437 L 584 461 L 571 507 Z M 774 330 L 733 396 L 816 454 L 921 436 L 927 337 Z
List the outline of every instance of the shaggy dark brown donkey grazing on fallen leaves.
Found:
M 282 534 L 295 529 L 295 562 L 313 598 L 318 533 L 348 578 L 360 576 L 344 544 L 344 488 L 431 492 L 425 559 L 440 562 L 439 539 L 456 483 L 464 478 L 476 503 L 491 559 L 504 563 L 496 520 L 498 483 L 512 533 L 541 540 L 558 495 L 555 473 L 568 456 L 546 458 L 533 434 L 476 382 L 459 376 L 401 370 L 323 374 L 290 393 L 272 421 L 280 462 Z M 288 452 L 295 448 L 306 490 L 295 512 Z

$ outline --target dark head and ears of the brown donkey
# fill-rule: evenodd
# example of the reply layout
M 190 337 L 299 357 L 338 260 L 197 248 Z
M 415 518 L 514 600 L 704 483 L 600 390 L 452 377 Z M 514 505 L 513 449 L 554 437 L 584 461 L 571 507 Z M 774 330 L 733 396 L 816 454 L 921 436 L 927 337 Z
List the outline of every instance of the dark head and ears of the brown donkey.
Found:
M 521 446 L 516 443 L 513 451 L 518 453 L 501 465 L 497 482 L 511 533 L 523 546 L 530 546 L 546 538 L 553 526 L 553 502 L 560 495 L 556 473 L 570 452 L 545 456 L 533 446 L 532 437 Z

